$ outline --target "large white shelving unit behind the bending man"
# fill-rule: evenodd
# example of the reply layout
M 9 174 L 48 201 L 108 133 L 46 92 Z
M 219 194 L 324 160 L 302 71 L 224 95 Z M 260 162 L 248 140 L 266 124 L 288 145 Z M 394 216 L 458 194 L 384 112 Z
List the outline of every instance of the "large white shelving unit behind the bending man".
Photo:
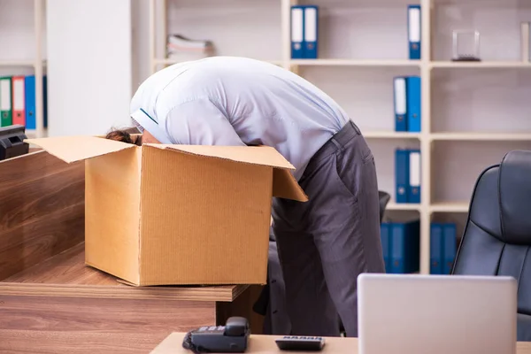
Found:
M 294 4 L 319 5 L 317 59 L 290 59 Z M 420 60 L 408 59 L 408 4 L 421 4 Z M 531 63 L 519 53 L 524 20 L 531 3 L 517 0 L 150 0 L 150 71 L 173 64 L 164 54 L 169 33 L 212 40 L 216 55 L 294 71 L 349 112 L 373 150 L 380 188 L 393 199 L 394 150 L 419 148 L 421 203 L 392 200 L 388 210 L 419 215 L 420 273 L 429 273 L 430 222 L 466 219 L 482 169 L 508 150 L 531 149 Z M 481 62 L 451 61 L 451 30 L 461 28 L 480 31 Z M 395 132 L 392 79 L 413 74 L 422 81 L 422 131 Z

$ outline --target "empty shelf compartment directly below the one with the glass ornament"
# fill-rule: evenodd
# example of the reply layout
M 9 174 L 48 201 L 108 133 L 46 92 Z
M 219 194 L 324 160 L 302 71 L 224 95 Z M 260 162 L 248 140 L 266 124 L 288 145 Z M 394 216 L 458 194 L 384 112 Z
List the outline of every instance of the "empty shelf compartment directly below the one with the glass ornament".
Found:
M 489 136 L 493 140 L 519 140 L 521 134 L 531 134 L 529 82 L 531 70 L 514 67 L 432 72 L 432 135 L 441 133 L 443 139 L 458 140 L 490 140 Z M 459 135 L 446 135 L 451 132 Z

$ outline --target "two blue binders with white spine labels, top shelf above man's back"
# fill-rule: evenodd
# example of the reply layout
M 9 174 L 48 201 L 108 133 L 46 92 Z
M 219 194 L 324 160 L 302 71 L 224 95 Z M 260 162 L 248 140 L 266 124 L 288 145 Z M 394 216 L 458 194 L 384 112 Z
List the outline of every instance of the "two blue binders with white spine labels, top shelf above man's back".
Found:
M 291 6 L 291 58 L 316 59 L 318 53 L 319 7 Z

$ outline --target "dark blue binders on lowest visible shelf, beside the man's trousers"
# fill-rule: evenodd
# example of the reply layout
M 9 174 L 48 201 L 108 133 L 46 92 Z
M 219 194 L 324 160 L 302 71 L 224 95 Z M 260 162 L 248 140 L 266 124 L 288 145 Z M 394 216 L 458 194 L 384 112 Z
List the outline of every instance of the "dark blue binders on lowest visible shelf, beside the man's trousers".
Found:
M 381 249 L 386 273 L 419 272 L 420 221 L 382 222 Z

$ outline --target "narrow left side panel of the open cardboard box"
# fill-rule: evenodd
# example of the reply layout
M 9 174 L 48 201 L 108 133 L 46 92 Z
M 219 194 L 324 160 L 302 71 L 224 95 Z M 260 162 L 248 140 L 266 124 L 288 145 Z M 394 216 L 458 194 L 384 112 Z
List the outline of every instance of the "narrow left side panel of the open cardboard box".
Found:
M 142 149 L 86 161 L 85 256 L 89 266 L 139 281 Z

